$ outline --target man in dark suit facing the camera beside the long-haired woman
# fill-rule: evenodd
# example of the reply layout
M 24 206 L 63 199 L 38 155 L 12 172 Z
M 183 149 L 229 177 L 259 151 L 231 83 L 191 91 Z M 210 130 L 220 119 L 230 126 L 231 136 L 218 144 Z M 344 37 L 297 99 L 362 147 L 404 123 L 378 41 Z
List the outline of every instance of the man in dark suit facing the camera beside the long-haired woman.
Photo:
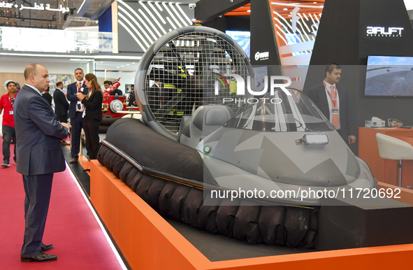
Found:
M 75 69 L 75 83 L 71 83 L 67 87 L 67 99 L 71 101 L 68 108 L 68 118 L 71 118 L 71 156 L 72 159 L 69 163 L 74 164 L 78 162 L 79 150 L 80 150 L 80 135 L 82 134 L 83 128 L 83 118 L 82 114 L 85 111 L 85 106 L 80 102 L 76 93 L 81 92 L 82 94 L 87 94 L 89 89 L 85 85 L 85 80 L 83 79 L 85 74 L 82 69 Z

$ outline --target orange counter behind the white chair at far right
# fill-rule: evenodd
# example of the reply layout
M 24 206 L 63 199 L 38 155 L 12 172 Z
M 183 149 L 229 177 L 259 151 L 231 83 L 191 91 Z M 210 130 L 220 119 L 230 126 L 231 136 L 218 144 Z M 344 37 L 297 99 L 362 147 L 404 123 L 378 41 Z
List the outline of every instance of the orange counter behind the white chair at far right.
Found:
M 372 170 L 373 176 L 384 183 L 396 185 L 396 160 L 382 159 L 379 156 L 376 134 L 382 133 L 412 143 L 413 129 L 383 128 L 373 129 L 358 128 L 358 156 L 361 157 Z M 403 138 L 404 137 L 404 138 Z M 413 186 L 413 160 L 403 160 L 403 186 Z

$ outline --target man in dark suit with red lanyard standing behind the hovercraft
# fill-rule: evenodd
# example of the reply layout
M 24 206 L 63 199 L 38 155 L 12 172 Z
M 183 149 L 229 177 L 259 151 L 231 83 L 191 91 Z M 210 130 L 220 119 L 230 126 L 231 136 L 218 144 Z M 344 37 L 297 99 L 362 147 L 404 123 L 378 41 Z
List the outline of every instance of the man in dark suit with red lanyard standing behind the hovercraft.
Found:
M 330 120 L 346 143 L 356 143 L 356 120 L 348 90 L 337 85 L 340 81 L 341 66 L 335 63 L 328 64 L 325 74 L 323 83 L 311 87 L 305 94 Z

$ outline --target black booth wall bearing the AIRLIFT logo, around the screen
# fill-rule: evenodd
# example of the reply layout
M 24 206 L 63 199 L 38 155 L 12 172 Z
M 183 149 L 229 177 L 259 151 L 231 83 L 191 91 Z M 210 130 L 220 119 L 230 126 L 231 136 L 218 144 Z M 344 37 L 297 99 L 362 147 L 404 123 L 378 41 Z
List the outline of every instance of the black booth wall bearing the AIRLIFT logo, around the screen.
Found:
M 404 29 L 401 37 L 367 36 L 368 26 Z M 349 90 L 358 127 L 372 116 L 413 125 L 413 99 L 364 97 L 367 56 L 412 56 L 412 43 L 413 29 L 403 0 L 326 0 L 304 92 L 325 78 L 326 64 L 336 62 L 343 66 L 340 85 Z M 357 143 L 350 148 L 357 153 Z

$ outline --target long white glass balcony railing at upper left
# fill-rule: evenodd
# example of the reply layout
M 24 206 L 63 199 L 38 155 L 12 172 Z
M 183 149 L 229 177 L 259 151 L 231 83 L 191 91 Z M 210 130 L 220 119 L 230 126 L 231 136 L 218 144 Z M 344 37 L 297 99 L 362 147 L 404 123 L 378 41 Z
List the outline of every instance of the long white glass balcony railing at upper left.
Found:
M 97 29 L 89 31 L 0 27 L 0 50 L 116 53 L 117 34 L 99 32 Z

